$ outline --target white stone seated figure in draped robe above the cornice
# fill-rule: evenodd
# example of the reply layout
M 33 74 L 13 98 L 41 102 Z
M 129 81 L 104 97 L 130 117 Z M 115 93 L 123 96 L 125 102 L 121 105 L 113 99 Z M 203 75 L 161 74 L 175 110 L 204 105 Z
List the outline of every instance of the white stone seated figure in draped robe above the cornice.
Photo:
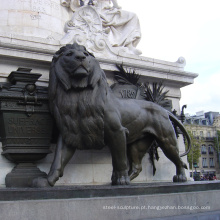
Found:
M 61 0 L 61 4 L 70 7 L 73 12 L 82 5 L 94 5 L 111 46 L 127 48 L 132 54 L 141 54 L 141 51 L 136 49 L 141 39 L 138 17 L 132 12 L 121 10 L 117 0 Z

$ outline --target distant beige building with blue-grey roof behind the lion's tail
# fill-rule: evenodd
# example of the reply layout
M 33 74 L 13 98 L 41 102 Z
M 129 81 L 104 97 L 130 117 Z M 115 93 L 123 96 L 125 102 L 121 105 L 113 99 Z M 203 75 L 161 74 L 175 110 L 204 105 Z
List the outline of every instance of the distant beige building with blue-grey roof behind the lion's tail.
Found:
M 192 132 L 192 135 L 200 143 L 201 157 L 197 164 L 196 172 L 200 176 L 216 175 L 220 178 L 219 173 L 219 149 L 215 148 L 215 138 L 217 130 L 220 130 L 220 121 L 218 112 L 197 112 L 195 116 L 186 115 L 185 126 L 187 130 Z M 195 172 L 192 166 L 190 174 Z

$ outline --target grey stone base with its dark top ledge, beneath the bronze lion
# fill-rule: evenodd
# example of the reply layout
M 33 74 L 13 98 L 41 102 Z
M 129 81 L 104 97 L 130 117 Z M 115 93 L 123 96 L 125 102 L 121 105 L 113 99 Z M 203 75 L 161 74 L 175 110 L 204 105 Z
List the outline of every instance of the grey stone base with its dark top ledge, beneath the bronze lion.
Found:
M 219 181 L 0 189 L 1 219 L 219 219 Z M 213 216 L 214 215 L 214 216 Z M 194 218 L 190 218 L 194 216 Z M 201 218 L 196 218 L 196 217 Z M 177 218 L 176 218 L 177 217 Z

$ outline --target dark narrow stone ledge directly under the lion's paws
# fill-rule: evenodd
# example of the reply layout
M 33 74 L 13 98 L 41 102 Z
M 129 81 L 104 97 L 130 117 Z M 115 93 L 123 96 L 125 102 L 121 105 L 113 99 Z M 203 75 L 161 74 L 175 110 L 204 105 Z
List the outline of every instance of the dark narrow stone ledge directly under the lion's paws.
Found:
M 220 181 L 145 183 L 128 186 L 55 186 L 53 188 L 1 188 L 0 201 L 140 196 L 220 190 Z

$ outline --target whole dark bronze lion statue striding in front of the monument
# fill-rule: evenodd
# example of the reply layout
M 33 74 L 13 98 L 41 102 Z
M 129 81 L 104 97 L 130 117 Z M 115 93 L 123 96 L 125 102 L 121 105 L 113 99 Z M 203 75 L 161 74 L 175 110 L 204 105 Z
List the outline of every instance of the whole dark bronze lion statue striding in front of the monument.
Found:
M 49 101 L 60 135 L 48 177 L 35 180 L 35 186 L 53 186 L 76 149 L 102 149 L 106 145 L 112 155 L 112 184 L 129 184 L 130 178 L 140 173 L 141 159 L 154 140 L 176 166 L 173 181 L 187 180 L 187 166 L 179 156 L 172 122 L 190 146 L 183 125 L 155 103 L 117 98 L 98 61 L 85 47 L 66 45 L 56 52 L 50 71 Z

